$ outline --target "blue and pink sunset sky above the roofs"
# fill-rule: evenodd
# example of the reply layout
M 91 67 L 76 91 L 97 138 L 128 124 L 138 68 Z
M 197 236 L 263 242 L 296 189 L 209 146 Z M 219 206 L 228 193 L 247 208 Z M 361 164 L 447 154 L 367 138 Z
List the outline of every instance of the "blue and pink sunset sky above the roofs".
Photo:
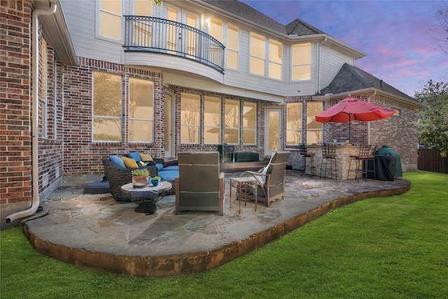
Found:
M 241 2 L 282 25 L 299 18 L 362 51 L 357 67 L 411 97 L 429 79 L 448 82 L 448 53 L 437 42 L 448 35 L 437 20 L 447 1 Z

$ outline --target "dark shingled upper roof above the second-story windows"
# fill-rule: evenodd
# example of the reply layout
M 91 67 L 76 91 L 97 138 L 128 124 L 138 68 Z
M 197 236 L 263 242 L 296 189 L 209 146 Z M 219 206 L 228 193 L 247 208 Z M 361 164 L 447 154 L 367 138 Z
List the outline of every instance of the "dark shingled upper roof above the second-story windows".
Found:
M 222 10 L 237 15 L 244 20 L 248 20 L 254 22 L 257 25 L 265 29 L 271 29 L 274 32 L 279 34 L 291 34 L 291 35 L 310 35 L 310 34 L 325 34 L 321 32 L 321 30 L 312 27 L 311 25 L 303 22 L 302 20 L 295 19 L 293 22 L 290 22 L 288 25 L 281 25 L 276 20 L 269 18 L 267 15 L 264 15 L 257 11 L 251 6 L 244 4 L 237 0 L 227 0 L 227 1 L 216 1 L 216 0 L 204 0 L 207 4 L 211 4 L 212 6 L 216 6 L 217 8 L 221 8 Z

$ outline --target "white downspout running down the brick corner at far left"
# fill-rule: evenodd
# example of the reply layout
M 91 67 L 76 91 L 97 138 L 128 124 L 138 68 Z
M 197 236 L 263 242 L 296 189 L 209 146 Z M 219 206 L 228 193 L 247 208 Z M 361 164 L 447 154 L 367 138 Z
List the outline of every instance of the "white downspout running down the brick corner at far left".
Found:
M 32 144 L 31 144 L 31 166 L 32 166 L 32 183 L 33 183 L 33 193 L 31 198 L 31 207 L 24 211 L 18 211 L 14 214 L 10 214 L 6 217 L 6 223 L 13 222 L 16 218 L 22 218 L 34 214 L 40 203 L 39 200 L 39 169 L 38 169 L 38 57 L 39 57 L 39 39 L 38 39 L 38 17 L 40 15 L 54 15 L 56 13 L 56 4 L 51 2 L 50 8 L 48 9 L 37 9 L 33 11 L 31 16 L 31 27 L 32 27 L 32 36 L 31 36 L 31 134 L 32 134 Z

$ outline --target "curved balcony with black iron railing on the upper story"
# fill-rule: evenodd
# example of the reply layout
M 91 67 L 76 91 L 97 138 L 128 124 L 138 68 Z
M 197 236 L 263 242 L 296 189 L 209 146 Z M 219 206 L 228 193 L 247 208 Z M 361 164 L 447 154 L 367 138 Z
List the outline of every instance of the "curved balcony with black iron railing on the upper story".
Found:
M 224 46 L 213 36 L 170 20 L 125 15 L 125 52 L 175 55 L 224 73 Z

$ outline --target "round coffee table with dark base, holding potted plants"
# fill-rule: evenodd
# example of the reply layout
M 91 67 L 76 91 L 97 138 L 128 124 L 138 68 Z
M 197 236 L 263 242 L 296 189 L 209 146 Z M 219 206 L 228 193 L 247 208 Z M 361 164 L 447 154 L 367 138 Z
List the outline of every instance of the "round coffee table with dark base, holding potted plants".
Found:
M 157 210 L 155 203 L 161 200 L 171 188 L 172 183 L 169 181 L 160 181 L 158 186 L 148 185 L 144 188 L 134 188 L 132 183 L 121 186 L 123 193 L 127 193 L 132 202 L 139 204 L 134 211 L 145 214 L 154 214 Z

